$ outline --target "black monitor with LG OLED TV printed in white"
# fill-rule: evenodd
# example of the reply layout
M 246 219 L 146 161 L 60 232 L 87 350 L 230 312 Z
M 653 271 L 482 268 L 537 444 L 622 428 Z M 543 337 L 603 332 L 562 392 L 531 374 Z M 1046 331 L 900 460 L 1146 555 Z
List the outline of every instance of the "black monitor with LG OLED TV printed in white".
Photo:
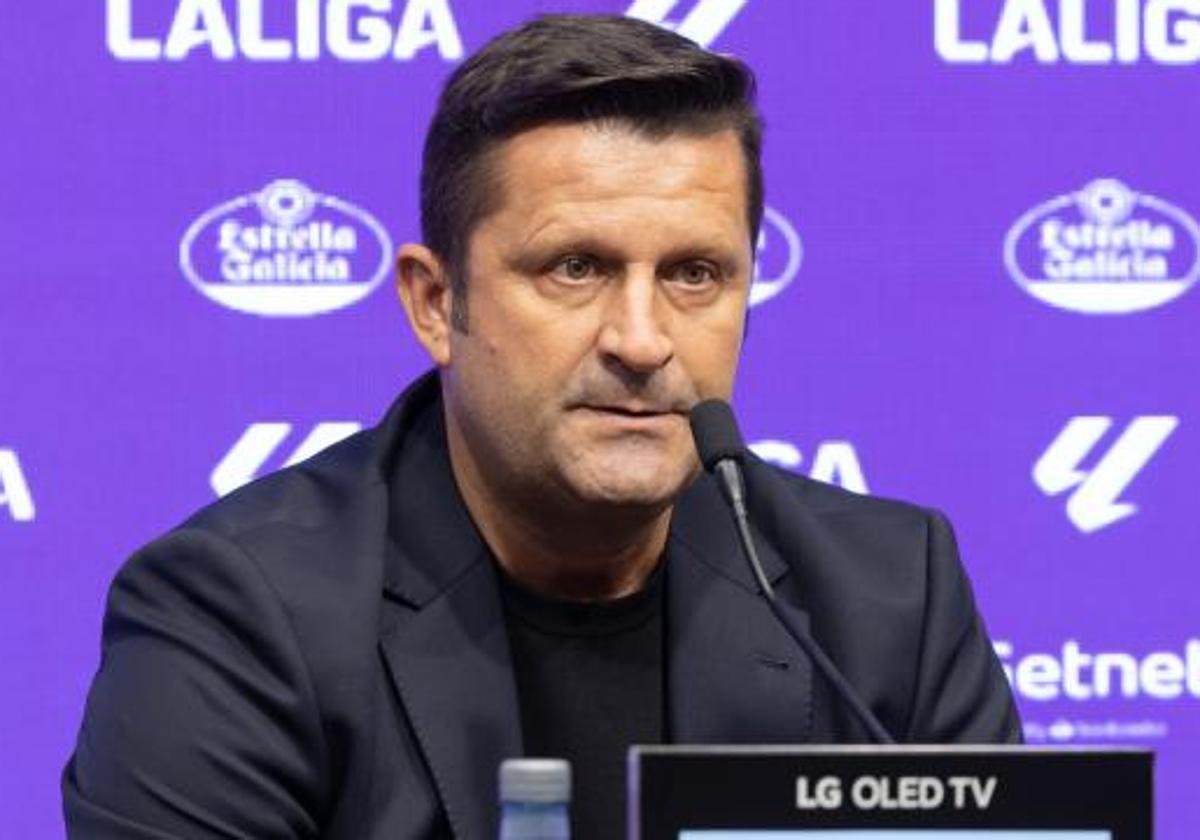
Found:
M 1152 840 L 1153 754 L 636 746 L 630 840 Z

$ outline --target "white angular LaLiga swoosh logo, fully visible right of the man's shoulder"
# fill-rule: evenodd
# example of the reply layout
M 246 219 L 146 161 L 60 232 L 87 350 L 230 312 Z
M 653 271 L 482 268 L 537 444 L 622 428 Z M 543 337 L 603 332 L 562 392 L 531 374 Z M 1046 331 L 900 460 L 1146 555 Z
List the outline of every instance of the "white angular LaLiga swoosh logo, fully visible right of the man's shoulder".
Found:
M 1178 425 L 1174 416 L 1136 418 L 1087 472 L 1079 466 L 1112 426 L 1112 419 L 1073 418 L 1038 458 L 1033 481 L 1048 496 L 1075 487 L 1067 500 L 1067 518 L 1085 534 L 1106 528 L 1138 511 L 1138 505 L 1117 499 Z

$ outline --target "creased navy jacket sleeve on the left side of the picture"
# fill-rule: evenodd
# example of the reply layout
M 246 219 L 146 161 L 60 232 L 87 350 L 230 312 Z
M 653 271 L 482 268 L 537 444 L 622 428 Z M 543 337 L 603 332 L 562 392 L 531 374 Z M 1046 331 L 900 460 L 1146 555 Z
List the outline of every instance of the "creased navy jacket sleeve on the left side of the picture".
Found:
M 324 742 L 284 605 L 236 544 L 175 532 L 109 593 L 62 774 L 71 838 L 308 838 Z

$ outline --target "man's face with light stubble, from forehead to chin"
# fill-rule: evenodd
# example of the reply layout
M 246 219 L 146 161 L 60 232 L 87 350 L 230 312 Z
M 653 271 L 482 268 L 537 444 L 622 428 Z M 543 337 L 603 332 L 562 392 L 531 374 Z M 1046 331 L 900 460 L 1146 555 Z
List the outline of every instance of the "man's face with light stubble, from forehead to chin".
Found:
M 493 157 L 469 328 L 444 365 L 452 451 L 554 508 L 665 508 L 697 470 L 688 412 L 728 398 L 752 254 L 737 134 L 534 128 Z

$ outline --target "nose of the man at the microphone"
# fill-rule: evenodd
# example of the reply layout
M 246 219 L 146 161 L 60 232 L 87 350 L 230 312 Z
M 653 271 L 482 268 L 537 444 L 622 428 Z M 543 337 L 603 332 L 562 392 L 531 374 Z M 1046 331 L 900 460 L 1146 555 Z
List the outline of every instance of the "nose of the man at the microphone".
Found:
M 637 373 L 652 373 L 674 355 L 666 331 L 666 301 L 653 271 L 630 272 L 606 300 L 600 353 Z

